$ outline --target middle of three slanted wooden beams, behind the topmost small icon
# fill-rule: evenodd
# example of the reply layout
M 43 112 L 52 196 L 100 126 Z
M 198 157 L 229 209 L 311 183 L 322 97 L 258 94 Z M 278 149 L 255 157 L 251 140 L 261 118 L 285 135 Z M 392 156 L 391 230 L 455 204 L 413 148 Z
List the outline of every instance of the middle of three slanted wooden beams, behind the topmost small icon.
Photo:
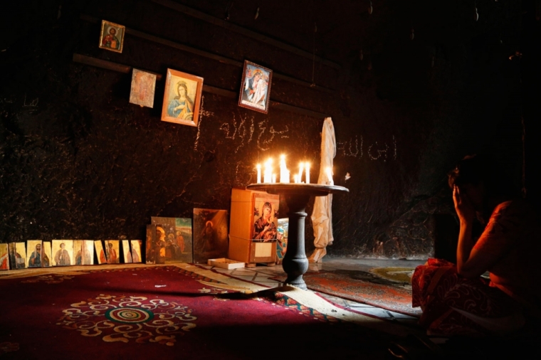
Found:
M 89 15 L 85 15 L 85 14 L 81 14 L 80 18 L 82 20 L 88 21 L 90 23 L 99 23 L 100 22 L 99 18 L 95 18 L 94 16 L 89 16 Z M 170 40 L 167 40 L 167 39 L 164 39 L 164 38 L 160 38 L 159 36 L 150 35 L 148 33 L 144 33 L 142 31 L 138 31 L 138 30 L 135 30 L 135 29 L 132 29 L 132 28 L 125 28 L 125 31 L 126 31 L 127 34 L 130 34 L 132 36 L 137 36 L 138 38 L 144 38 L 145 40 L 153 41 L 154 43 L 159 43 L 159 44 L 162 44 L 164 46 L 169 46 L 171 48 L 176 48 L 178 50 L 186 51 L 187 53 L 192 53 L 192 54 L 196 54 L 196 55 L 199 55 L 199 56 L 203 56 L 205 58 L 210 58 L 212 60 L 219 61 L 220 63 L 238 66 L 239 68 L 243 68 L 243 66 L 244 66 L 244 63 L 242 61 L 226 58 L 225 56 L 216 55 L 214 53 L 209 53 L 208 51 L 203 51 L 203 50 L 199 50 L 199 49 L 196 49 L 196 48 L 192 48 L 191 46 L 187 46 L 187 45 L 184 45 L 182 43 L 176 43 L 174 41 L 170 41 Z M 280 73 L 273 72 L 273 78 L 286 80 L 286 81 L 289 81 L 290 83 L 303 85 L 303 86 L 305 86 L 307 88 L 312 88 L 312 89 L 315 89 L 315 90 L 325 91 L 325 92 L 329 92 L 329 93 L 335 92 L 332 89 L 324 88 L 324 87 L 322 87 L 320 85 L 313 85 L 311 83 L 308 83 L 308 81 L 293 78 L 291 76 L 283 75 L 283 74 L 280 74 Z

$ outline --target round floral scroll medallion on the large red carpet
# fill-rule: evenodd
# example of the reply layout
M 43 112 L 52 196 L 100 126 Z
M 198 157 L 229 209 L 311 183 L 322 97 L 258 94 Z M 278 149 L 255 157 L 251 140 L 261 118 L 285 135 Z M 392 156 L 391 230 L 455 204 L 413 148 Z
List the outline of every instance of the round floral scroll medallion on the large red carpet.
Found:
M 57 325 L 85 337 L 102 337 L 104 342 L 132 340 L 173 346 L 177 335 L 196 327 L 197 320 L 182 304 L 147 297 L 102 294 L 71 306 L 63 310 Z

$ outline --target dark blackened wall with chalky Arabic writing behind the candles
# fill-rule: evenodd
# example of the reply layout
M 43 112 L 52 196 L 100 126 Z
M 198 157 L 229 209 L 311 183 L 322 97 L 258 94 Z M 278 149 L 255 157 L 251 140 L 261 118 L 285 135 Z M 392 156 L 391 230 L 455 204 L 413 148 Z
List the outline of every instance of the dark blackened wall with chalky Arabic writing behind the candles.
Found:
M 230 3 L 177 2 L 218 18 Z M 533 1 L 478 1 L 477 22 L 468 1 L 377 1 L 372 15 L 359 1 L 281 3 L 263 2 L 256 21 L 255 4 L 234 1 L 229 22 L 310 53 L 315 44 L 340 69 L 148 0 L 12 4 L 0 38 L 0 241 L 144 238 L 150 216 L 229 209 L 231 187 L 255 182 L 255 164 L 280 153 L 290 167 L 310 161 L 317 179 L 322 117 L 272 107 L 264 115 L 204 92 L 199 127 L 161 122 L 164 80 L 154 108 L 138 107 L 128 101 L 131 75 L 74 63 L 73 53 L 181 70 L 234 92 L 242 69 L 130 34 L 122 53 L 105 51 L 100 24 L 81 14 L 308 83 L 313 74 L 332 89 L 277 78 L 271 88 L 273 100 L 335 124 L 335 184 L 350 194 L 333 201 L 331 255 L 434 254 L 437 219 L 453 218 L 446 172 L 466 154 L 498 155 L 522 185 L 524 129 L 527 164 L 537 154 L 537 135 L 522 122 L 539 114 Z M 515 51 L 524 55 L 510 60 Z M 527 171 L 534 188 L 535 171 Z M 309 220 L 306 235 L 310 252 Z

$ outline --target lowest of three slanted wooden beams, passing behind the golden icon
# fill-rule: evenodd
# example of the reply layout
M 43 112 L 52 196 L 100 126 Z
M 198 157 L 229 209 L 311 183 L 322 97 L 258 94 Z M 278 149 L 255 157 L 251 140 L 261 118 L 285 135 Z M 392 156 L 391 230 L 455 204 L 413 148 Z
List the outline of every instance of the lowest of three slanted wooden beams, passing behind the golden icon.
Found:
M 125 73 L 125 74 L 129 74 L 133 69 L 133 67 L 130 66 L 130 65 L 122 65 L 122 64 L 119 64 L 119 63 L 113 63 L 112 61 L 102 60 L 102 59 L 98 59 L 98 58 L 92 58 L 90 56 L 81 55 L 81 54 L 78 54 L 78 53 L 73 54 L 73 62 L 81 63 L 81 64 L 85 64 L 85 65 L 90 65 L 90 66 L 95 66 L 96 68 L 103 68 L 103 69 L 107 69 L 107 70 L 117 71 L 119 73 Z M 152 73 L 152 72 L 149 71 L 149 73 Z M 156 74 L 156 73 L 153 73 L 153 74 Z M 163 78 L 162 75 L 156 74 L 156 79 L 157 80 L 161 80 L 162 78 Z M 224 97 L 229 97 L 231 99 L 236 99 L 238 97 L 237 92 L 222 89 L 222 88 L 216 88 L 215 86 L 211 86 L 211 85 L 203 85 L 203 91 L 204 92 L 209 92 L 211 94 L 216 94 L 216 95 L 220 95 L 220 96 L 224 96 Z M 310 116 L 310 117 L 325 118 L 325 117 L 329 116 L 329 115 L 323 114 L 322 112 L 317 112 L 317 111 L 305 109 L 303 107 L 297 107 L 297 106 L 293 106 L 293 105 L 288 105 L 288 104 L 284 104 L 283 102 L 278 102 L 278 101 L 273 101 L 273 100 L 271 100 L 270 106 L 275 108 L 275 109 L 285 110 L 285 111 L 289 111 L 289 112 L 296 112 L 298 114 L 306 115 L 306 116 Z

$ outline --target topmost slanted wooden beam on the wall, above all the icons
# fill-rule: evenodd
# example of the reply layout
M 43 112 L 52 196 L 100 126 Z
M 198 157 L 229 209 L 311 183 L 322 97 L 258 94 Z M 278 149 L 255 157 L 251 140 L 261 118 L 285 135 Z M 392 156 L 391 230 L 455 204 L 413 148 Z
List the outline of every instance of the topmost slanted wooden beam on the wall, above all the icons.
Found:
M 193 16 L 194 18 L 199 18 L 200 20 L 206 21 L 208 23 L 211 23 L 216 26 L 221 26 L 222 28 L 226 28 L 231 31 L 235 31 L 236 33 L 241 33 L 244 36 L 248 36 L 250 38 L 255 38 L 258 41 L 261 41 L 263 43 L 268 43 L 269 45 L 275 46 L 277 48 L 281 48 L 283 50 L 289 51 L 290 53 L 294 53 L 296 55 L 303 56 L 304 58 L 309 58 L 310 60 L 316 60 L 318 63 L 325 64 L 327 66 L 330 66 L 331 68 L 340 69 L 341 66 L 337 63 L 332 62 L 331 60 L 326 60 L 324 58 L 320 58 L 319 56 L 315 56 L 312 53 L 309 53 L 308 51 L 304 51 L 300 48 L 295 48 L 295 46 L 290 46 L 287 43 L 283 43 L 281 41 L 275 40 L 273 38 L 270 38 L 268 36 L 265 36 L 261 33 L 256 33 L 256 31 L 249 30 L 247 28 L 243 28 L 242 26 L 235 25 L 234 23 L 230 23 L 228 21 L 224 21 L 221 18 L 216 18 L 214 16 L 211 16 L 209 14 L 205 14 L 204 12 L 191 9 L 188 6 L 184 6 L 182 4 L 179 4 L 177 2 L 171 1 L 171 0 L 151 0 L 152 2 L 156 4 L 160 4 L 162 6 L 165 6 L 169 9 L 173 9 L 179 12 L 182 12 L 184 14 L 187 14 L 189 16 Z

